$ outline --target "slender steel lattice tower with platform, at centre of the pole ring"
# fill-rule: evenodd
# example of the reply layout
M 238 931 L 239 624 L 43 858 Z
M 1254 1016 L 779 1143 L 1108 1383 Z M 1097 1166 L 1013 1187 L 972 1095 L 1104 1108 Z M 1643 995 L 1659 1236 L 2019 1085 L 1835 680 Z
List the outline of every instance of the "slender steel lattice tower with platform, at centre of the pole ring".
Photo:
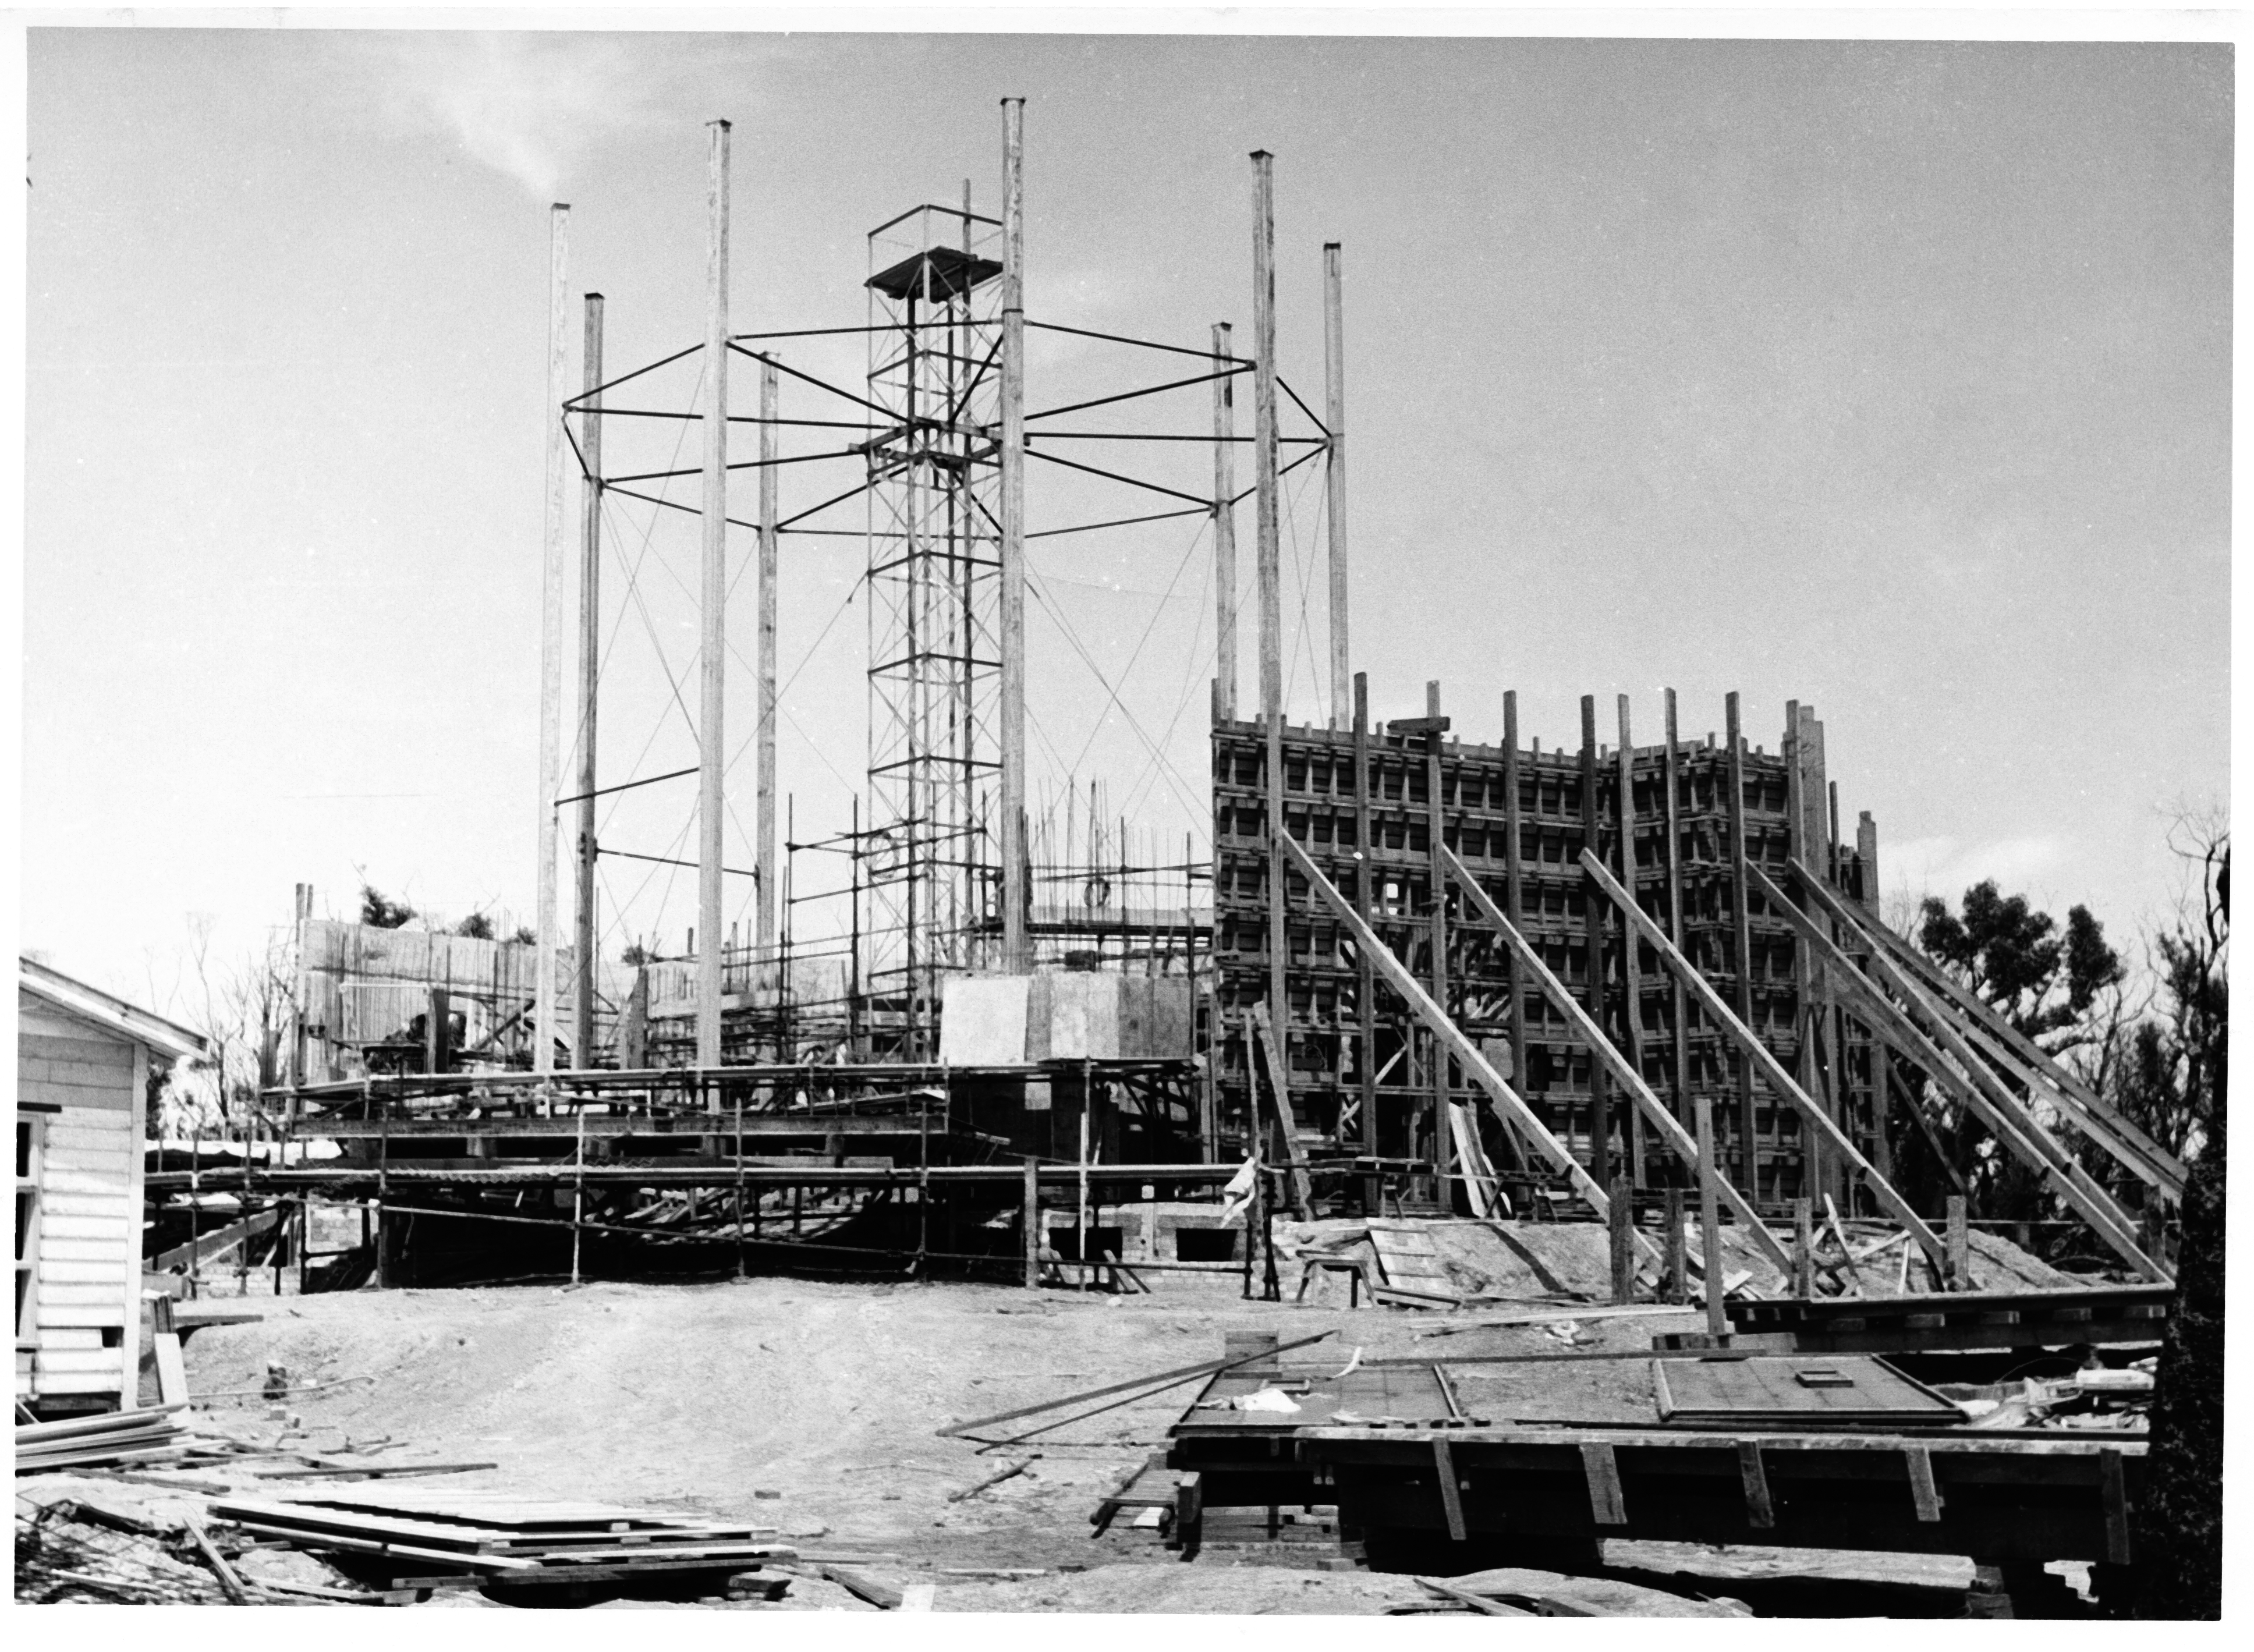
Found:
M 1001 225 L 868 237 L 868 1025 L 931 1053 L 938 980 L 999 951 Z

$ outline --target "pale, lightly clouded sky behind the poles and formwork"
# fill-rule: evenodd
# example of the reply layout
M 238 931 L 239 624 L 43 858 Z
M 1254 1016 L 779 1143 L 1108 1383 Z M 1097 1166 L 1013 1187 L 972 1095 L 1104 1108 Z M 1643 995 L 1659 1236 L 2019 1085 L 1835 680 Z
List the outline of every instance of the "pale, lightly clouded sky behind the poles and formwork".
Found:
M 1517 687 L 1553 746 L 1580 694 L 1609 739 L 1627 692 L 1652 739 L 1675 687 L 1697 737 L 1740 690 L 1774 750 L 1801 699 L 1889 886 L 1999 877 L 2117 940 L 2164 904 L 2166 811 L 2229 789 L 2229 47 L 70 29 L 29 47 L 23 944 L 162 1001 L 185 915 L 241 949 L 295 881 L 527 915 L 548 203 L 613 372 L 692 345 L 728 117 L 735 327 L 850 327 L 866 230 L 965 178 L 999 198 L 1003 95 L 1035 318 L 1242 338 L 1264 146 L 1314 401 L 1346 243 L 1377 714 L 1440 678 L 1492 739 Z M 1044 343 L 1028 394 L 1132 370 Z M 1204 394 L 1147 419 L 1201 430 Z M 1091 503 L 1037 476 L 1032 525 Z M 1032 552 L 1037 784 L 1100 778 L 1177 847 L 1204 836 L 1192 530 Z M 694 525 L 613 536 L 606 782 L 692 760 Z M 866 762 L 861 559 L 789 545 L 800 836 L 845 825 Z M 1287 609 L 1319 719 L 1321 590 L 1294 572 Z M 746 581 L 746 660 L 751 622 Z M 751 784 L 746 755 L 744 823 Z M 692 800 L 636 793 L 604 841 L 692 854 Z M 606 951 L 681 944 L 692 874 L 609 879 Z

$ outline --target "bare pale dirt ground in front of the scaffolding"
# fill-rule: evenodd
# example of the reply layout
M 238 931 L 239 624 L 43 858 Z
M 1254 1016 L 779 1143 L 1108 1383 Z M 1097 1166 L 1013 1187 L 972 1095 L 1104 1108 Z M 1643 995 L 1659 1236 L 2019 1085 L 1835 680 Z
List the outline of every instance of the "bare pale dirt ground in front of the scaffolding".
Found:
M 807 1553 L 872 1555 L 895 1580 L 938 1587 L 942 1611 L 1384 1611 L 1431 1605 L 1406 1578 L 1208 1544 L 1183 1566 L 1150 1533 L 1091 1539 L 1089 1517 L 1195 1395 L 1183 1384 L 980 1451 L 938 1429 L 1080 1388 L 1215 1359 L 1233 1330 L 1285 1343 L 1332 1332 L 1294 1359 L 1560 1350 L 1555 1332 L 1420 1339 L 1436 1323 L 1393 1309 L 1244 1303 L 1235 1280 L 1174 1278 L 1156 1296 L 985 1285 L 525 1285 L 352 1291 L 257 1303 L 268 1318 L 196 1332 L 189 1386 L 214 1395 L 201 1427 L 316 1451 L 379 1447 L 379 1460 L 489 1460 L 462 1487 L 600 1496 L 778 1526 Z M 1681 1314 L 1576 1323 L 1576 1348 L 1650 1345 Z M 270 1406 L 270 1364 L 291 1386 L 336 1384 Z M 1641 1366 L 1569 1366 L 1576 1415 L 1650 1415 Z M 1100 1402 L 1098 1402 L 1100 1404 Z M 1053 1424 L 1041 1413 L 1012 1431 Z M 379 1442 L 392 1440 L 383 1447 Z M 951 1501 L 999 1467 L 1023 1474 Z M 1028 1578 L 958 1578 L 967 1571 Z M 1551 1578 L 1555 1587 L 1567 1580 Z M 1609 1584 L 1616 1593 L 1621 1584 Z M 1630 1591 L 1636 1593 L 1636 1591 Z M 1650 1609 L 1700 1609 L 1643 1591 Z M 793 1605 L 857 1607 L 834 1584 Z M 1706 1607 L 1724 1611 L 1729 1607 Z

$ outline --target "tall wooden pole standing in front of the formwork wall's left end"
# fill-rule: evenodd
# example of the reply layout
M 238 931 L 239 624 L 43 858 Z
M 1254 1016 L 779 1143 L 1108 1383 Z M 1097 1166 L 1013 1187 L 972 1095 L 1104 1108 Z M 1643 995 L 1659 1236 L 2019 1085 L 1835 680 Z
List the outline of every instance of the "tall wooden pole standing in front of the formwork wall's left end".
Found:
M 1276 178 L 1274 158 L 1253 151 L 1253 545 L 1260 581 L 1260 723 L 1267 728 L 1267 951 L 1269 1028 L 1276 1057 L 1276 1113 L 1289 1147 L 1292 996 L 1285 987 L 1292 935 L 1285 913 L 1283 818 L 1283 566 L 1276 521 Z

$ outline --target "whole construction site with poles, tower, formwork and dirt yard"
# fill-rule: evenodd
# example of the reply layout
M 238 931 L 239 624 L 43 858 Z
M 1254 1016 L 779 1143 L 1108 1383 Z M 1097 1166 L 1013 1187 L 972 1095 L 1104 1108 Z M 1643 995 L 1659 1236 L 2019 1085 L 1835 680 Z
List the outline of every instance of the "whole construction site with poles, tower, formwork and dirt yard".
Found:
M 667 356 L 550 212 L 530 938 L 300 883 L 257 1104 L 119 1172 L 117 1314 L 36 1170 L 99 1131 L 18 1113 L 18 1598 L 2126 1616 L 2186 1163 L 1882 920 L 1817 708 L 1521 728 L 1357 654 L 1346 248 L 1294 388 L 1269 153 L 1242 327 L 1028 313 L 1012 97 L 999 183 L 742 331 L 706 137 Z M 1120 701 L 1028 681 L 1028 543 L 1122 527 L 1208 563 L 1204 832 L 1028 750 Z M 694 674 L 606 618 L 654 534 Z M 866 550 L 843 818 L 778 764 L 778 660 L 859 647 L 778 599 L 814 541 Z M 597 739 L 631 692 L 692 766 Z M 196 1048 L 25 992 L 144 1086 Z M 2069 1219 L 1911 1190 L 1936 1107 Z

